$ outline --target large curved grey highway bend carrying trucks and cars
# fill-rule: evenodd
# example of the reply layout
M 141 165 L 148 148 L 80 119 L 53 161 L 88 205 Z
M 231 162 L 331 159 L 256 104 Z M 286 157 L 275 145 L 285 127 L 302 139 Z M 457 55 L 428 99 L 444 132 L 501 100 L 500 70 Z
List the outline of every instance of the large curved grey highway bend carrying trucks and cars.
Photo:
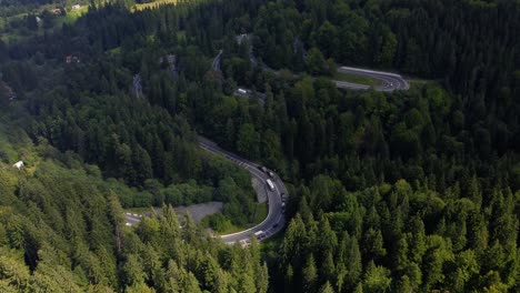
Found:
M 239 166 L 246 169 L 252 176 L 257 178 L 260 182 L 266 185 L 266 190 L 268 192 L 268 204 L 269 204 L 269 212 L 266 220 L 263 220 L 260 224 L 250 228 L 244 231 L 240 231 L 232 234 L 220 235 L 223 242 L 227 244 L 234 244 L 239 242 L 242 246 L 246 246 L 250 243 L 250 239 L 254 233 L 261 233 L 259 236 L 259 241 L 263 241 L 269 239 L 270 236 L 274 235 L 276 233 L 280 232 L 286 224 L 286 218 L 283 215 L 283 206 L 282 206 L 282 196 L 287 196 L 287 189 L 281 179 L 276 174 L 272 173 L 273 176 L 269 176 L 264 172 L 258 169 L 258 164 L 254 164 L 246 159 L 242 159 L 233 153 L 224 151 L 220 149 L 216 143 L 199 137 L 199 145 L 200 148 L 216 153 L 221 154 L 229 161 L 238 164 Z M 267 186 L 267 180 L 270 179 L 274 184 L 274 190 L 271 191 Z

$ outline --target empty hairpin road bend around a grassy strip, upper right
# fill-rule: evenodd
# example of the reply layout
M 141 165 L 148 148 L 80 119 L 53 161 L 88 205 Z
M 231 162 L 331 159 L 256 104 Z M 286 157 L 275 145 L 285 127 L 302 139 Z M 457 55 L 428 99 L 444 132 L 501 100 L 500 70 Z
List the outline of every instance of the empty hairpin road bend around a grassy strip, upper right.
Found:
M 360 69 L 360 68 L 351 68 L 351 67 L 340 67 L 338 68 L 338 72 L 368 77 L 368 78 L 381 81 L 381 85 L 371 87 L 367 84 L 359 84 L 359 83 L 334 80 L 336 85 L 342 89 L 368 90 L 372 88 L 376 91 L 388 91 L 388 92 L 396 91 L 396 90 L 409 90 L 410 89 L 410 84 L 408 83 L 408 81 L 406 81 L 400 74 L 397 74 L 397 73 Z

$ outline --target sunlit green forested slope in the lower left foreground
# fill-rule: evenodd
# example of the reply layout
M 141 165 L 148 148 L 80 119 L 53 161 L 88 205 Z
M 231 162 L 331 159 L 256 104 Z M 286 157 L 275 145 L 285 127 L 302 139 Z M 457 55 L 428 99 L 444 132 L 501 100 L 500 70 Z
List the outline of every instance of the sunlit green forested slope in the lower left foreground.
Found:
M 137 191 L 103 181 L 77 154 L 32 145 L 4 118 L 1 292 L 266 292 L 267 267 L 256 244 L 226 246 L 189 216 L 179 222 L 171 206 L 127 228 L 118 196 L 130 194 L 118 191 Z M 17 158 L 26 162 L 20 171 L 8 163 Z

